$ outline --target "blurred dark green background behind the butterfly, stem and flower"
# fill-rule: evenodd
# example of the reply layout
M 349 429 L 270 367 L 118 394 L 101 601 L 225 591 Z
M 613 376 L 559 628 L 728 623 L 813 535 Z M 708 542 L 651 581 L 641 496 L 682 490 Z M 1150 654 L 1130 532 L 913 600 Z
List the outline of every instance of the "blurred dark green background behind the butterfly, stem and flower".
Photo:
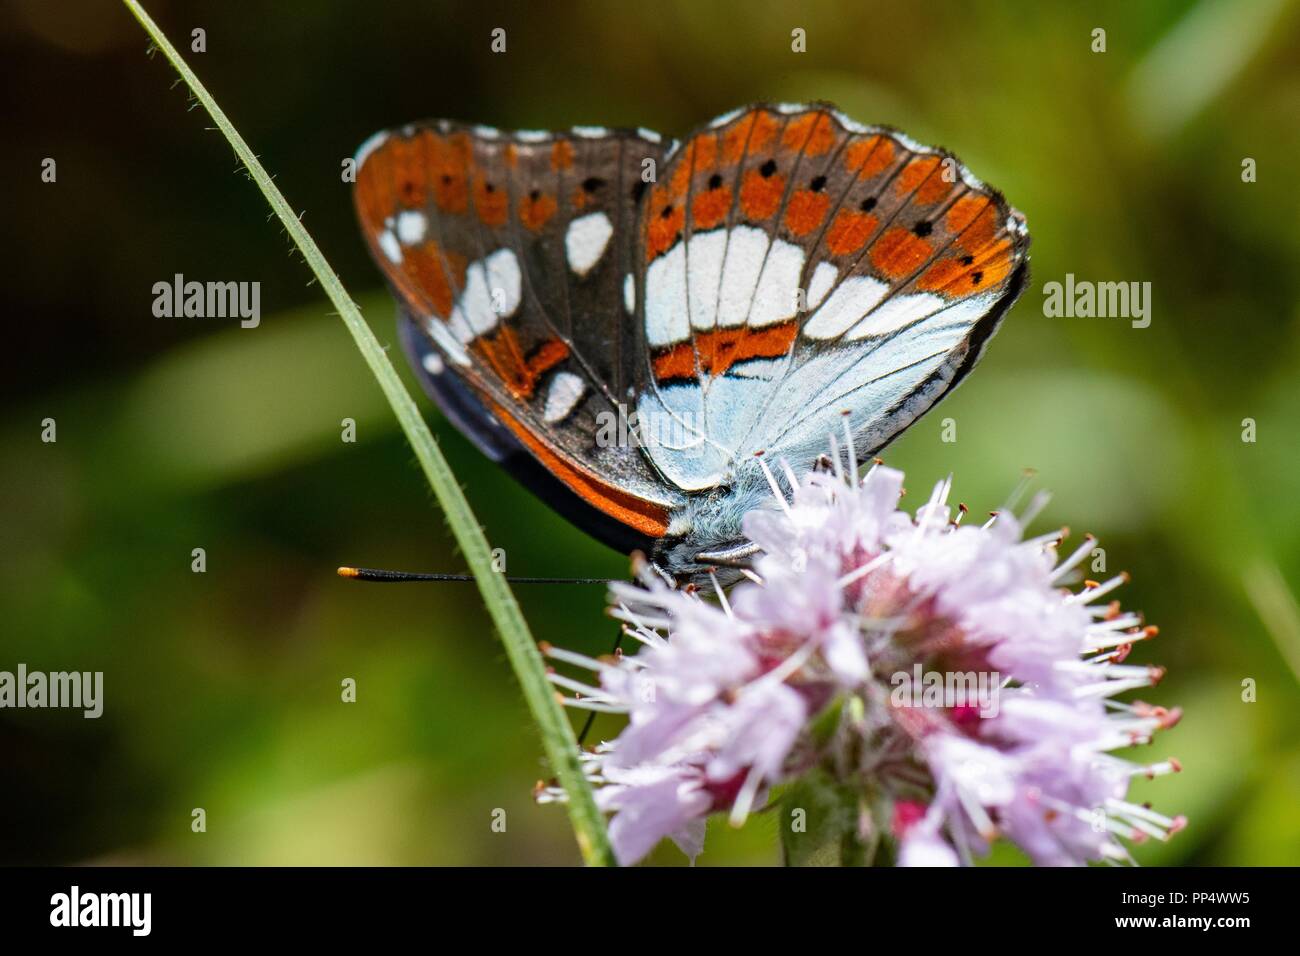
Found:
M 1132 659 L 1167 665 L 1149 698 L 1186 708 L 1150 754 L 1184 773 L 1138 791 L 1191 819 L 1139 858 L 1300 861 L 1300 3 L 147 5 L 186 51 L 205 30 L 191 64 L 386 343 L 339 177 L 376 129 L 681 134 L 746 101 L 828 99 L 956 150 L 1026 213 L 1032 285 L 885 457 L 914 489 L 954 472 L 975 511 L 1034 467 L 1054 493 L 1037 529 L 1092 531 L 1132 572 L 1126 606 L 1161 626 Z M 0 861 L 576 862 L 564 812 L 532 803 L 540 744 L 473 587 L 334 575 L 463 562 L 228 146 L 117 4 L 0 9 L 0 670 L 105 672 L 99 721 L 0 711 Z M 153 317 L 153 282 L 177 272 L 260 281 L 261 326 Z M 1150 328 L 1044 317 L 1043 284 L 1067 272 L 1149 281 Z M 429 419 L 511 574 L 625 572 Z M 538 639 L 608 648 L 599 588 L 519 596 Z M 776 858 L 758 816 L 714 827 L 699 862 Z

